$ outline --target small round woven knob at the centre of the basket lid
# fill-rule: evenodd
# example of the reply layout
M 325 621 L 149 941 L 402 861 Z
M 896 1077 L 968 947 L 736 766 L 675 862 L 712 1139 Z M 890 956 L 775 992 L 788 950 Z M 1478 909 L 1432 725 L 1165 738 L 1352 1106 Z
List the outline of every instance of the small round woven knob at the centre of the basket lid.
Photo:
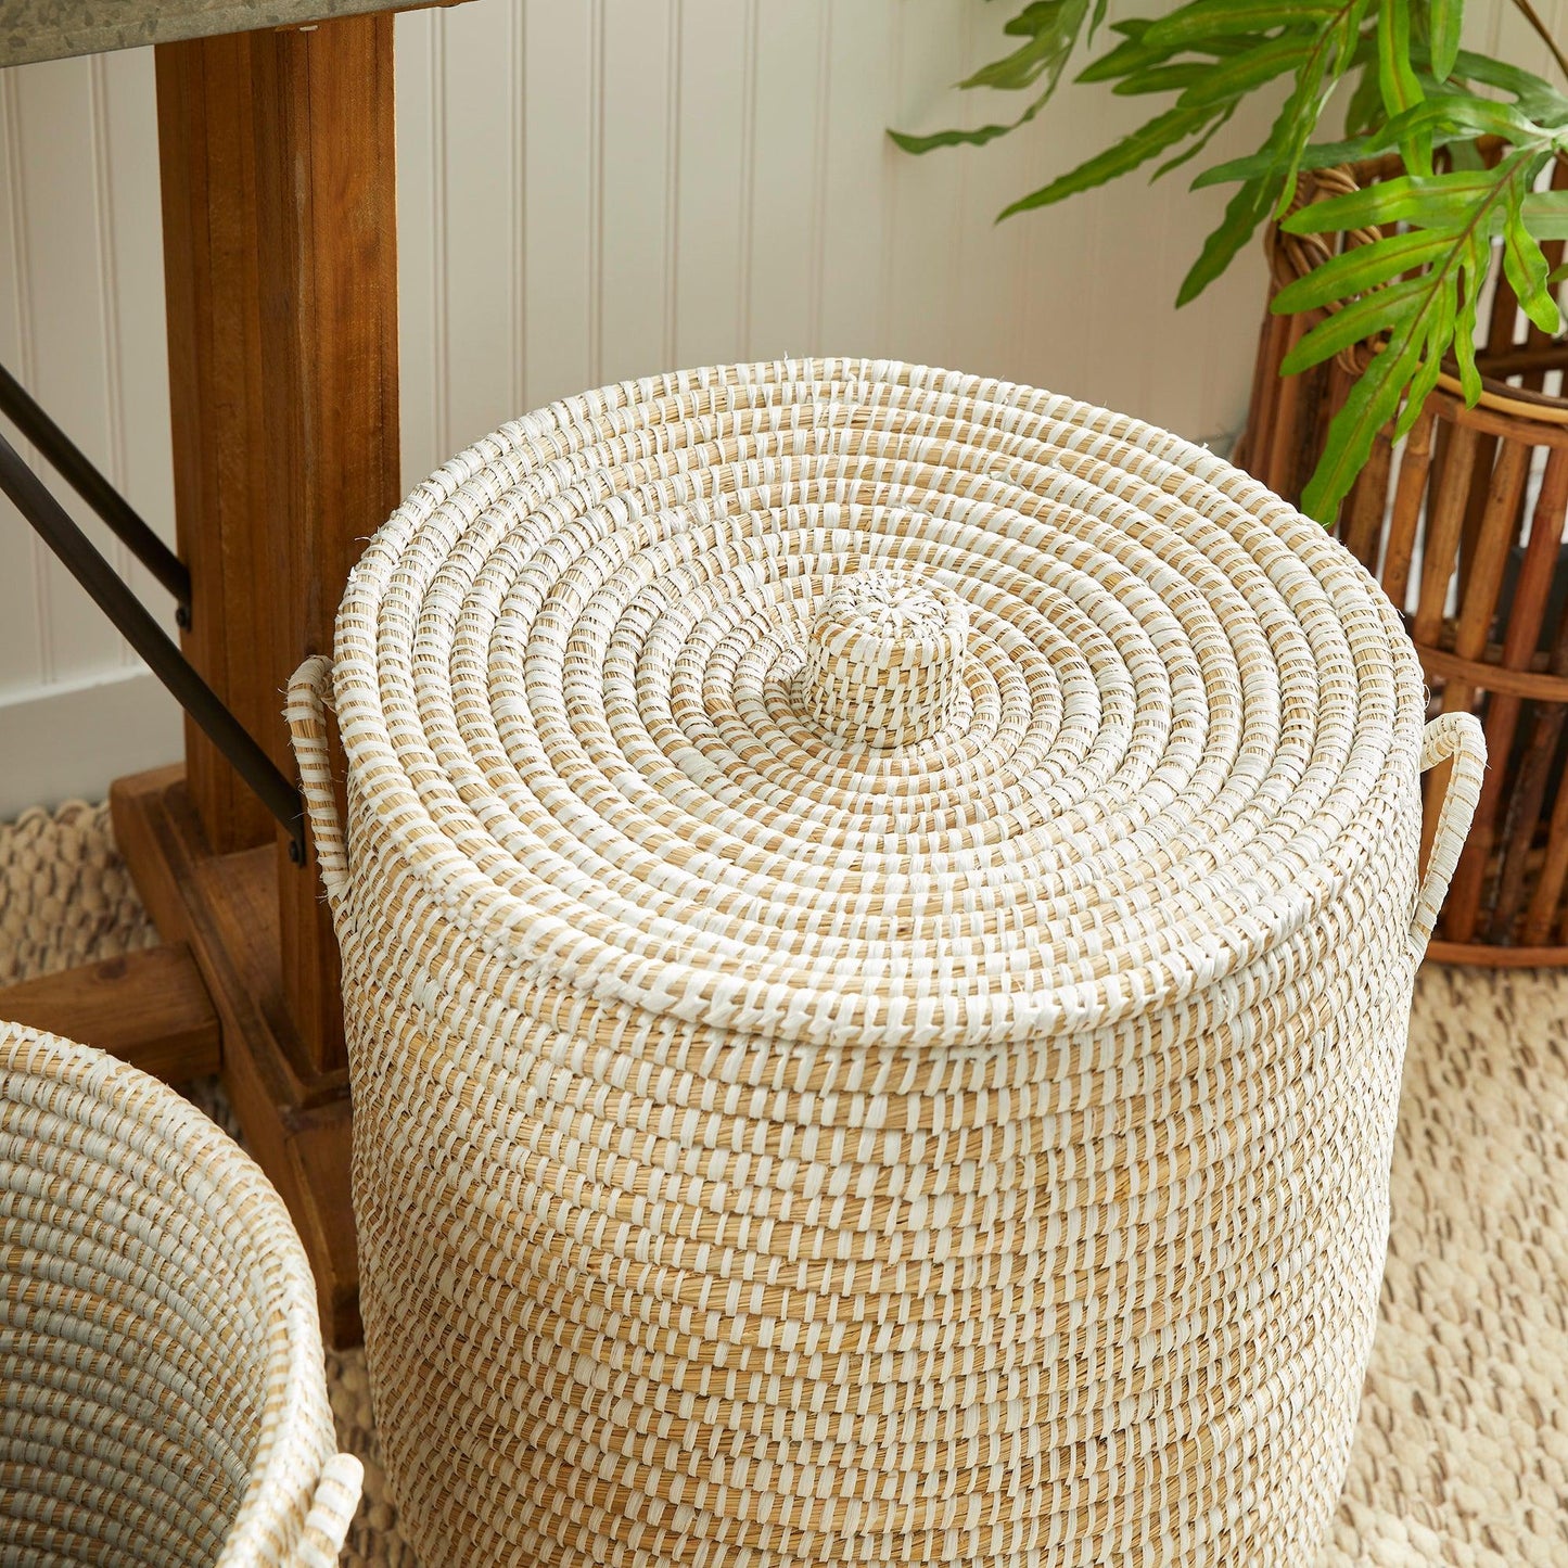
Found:
M 853 745 L 930 740 L 953 717 L 967 640 L 967 610 L 946 590 L 889 571 L 844 577 L 811 622 L 801 704 Z

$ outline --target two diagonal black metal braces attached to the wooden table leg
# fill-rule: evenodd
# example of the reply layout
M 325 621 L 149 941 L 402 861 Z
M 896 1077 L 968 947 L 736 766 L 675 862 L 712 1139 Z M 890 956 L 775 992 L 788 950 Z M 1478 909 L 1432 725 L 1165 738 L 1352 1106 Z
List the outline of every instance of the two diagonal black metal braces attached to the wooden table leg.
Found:
M 149 572 L 174 594 L 180 626 L 190 624 L 191 579 L 185 563 L 132 510 L 124 495 L 83 456 L 64 431 L 0 367 L 0 414 L 49 459 L 63 480 L 108 524 Z M 229 759 L 235 773 L 289 833 L 289 858 L 304 864 L 304 803 L 299 792 L 257 745 L 251 732 L 223 706 L 216 691 L 196 673 L 176 641 L 147 607 L 125 586 L 75 519 L 44 481 L 0 436 L 0 492 L 8 495 L 34 533 L 61 560 L 93 602 L 147 662 L 147 668 Z

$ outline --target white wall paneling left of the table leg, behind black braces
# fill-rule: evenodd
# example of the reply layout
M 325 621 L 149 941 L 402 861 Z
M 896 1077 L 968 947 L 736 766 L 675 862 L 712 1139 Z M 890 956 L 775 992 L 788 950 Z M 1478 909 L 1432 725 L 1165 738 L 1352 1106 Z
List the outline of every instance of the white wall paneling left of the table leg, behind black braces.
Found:
M 151 53 L 0 72 L 0 358 L 168 536 L 163 260 Z M 52 474 L 146 602 L 172 605 Z M 174 701 L 0 508 L 0 812 L 102 793 L 179 754 Z

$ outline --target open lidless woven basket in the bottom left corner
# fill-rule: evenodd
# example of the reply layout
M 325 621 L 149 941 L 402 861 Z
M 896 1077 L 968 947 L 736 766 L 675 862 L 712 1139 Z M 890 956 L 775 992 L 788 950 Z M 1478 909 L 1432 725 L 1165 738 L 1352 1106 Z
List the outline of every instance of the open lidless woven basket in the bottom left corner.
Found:
M 329 1568 L 359 1502 L 282 1201 L 172 1090 L 0 1024 L 0 1560 Z

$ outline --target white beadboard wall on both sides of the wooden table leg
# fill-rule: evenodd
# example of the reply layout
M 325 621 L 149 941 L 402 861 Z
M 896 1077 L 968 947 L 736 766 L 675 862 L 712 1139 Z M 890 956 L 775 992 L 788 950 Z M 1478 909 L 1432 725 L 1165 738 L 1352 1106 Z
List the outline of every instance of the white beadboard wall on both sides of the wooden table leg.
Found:
M 1171 309 L 1223 193 L 1135 177 L 993 223 L 1146 103 L 1069 89 L 1014 136 L 925 158 L 884 136 L 1016 111 L 952 89 L 1005 47 L 1014 9 L 474 0 L 400 16 L 406 481 L 586 386 L 804 353 L 953 365 L 1234 434 L 1259 259 Z M 1472 0 L 1471 30 L 1538 55 L 1507 0 Z M 1243 147 L 1258 119 L 1231 130 Z M 0 71 L 0 362 L 172 536 L 149 50 Z M 147 602 L 171 624 L 155 590 Z M 0 818 L 179 751 L 172 701 L 0 502 Z

